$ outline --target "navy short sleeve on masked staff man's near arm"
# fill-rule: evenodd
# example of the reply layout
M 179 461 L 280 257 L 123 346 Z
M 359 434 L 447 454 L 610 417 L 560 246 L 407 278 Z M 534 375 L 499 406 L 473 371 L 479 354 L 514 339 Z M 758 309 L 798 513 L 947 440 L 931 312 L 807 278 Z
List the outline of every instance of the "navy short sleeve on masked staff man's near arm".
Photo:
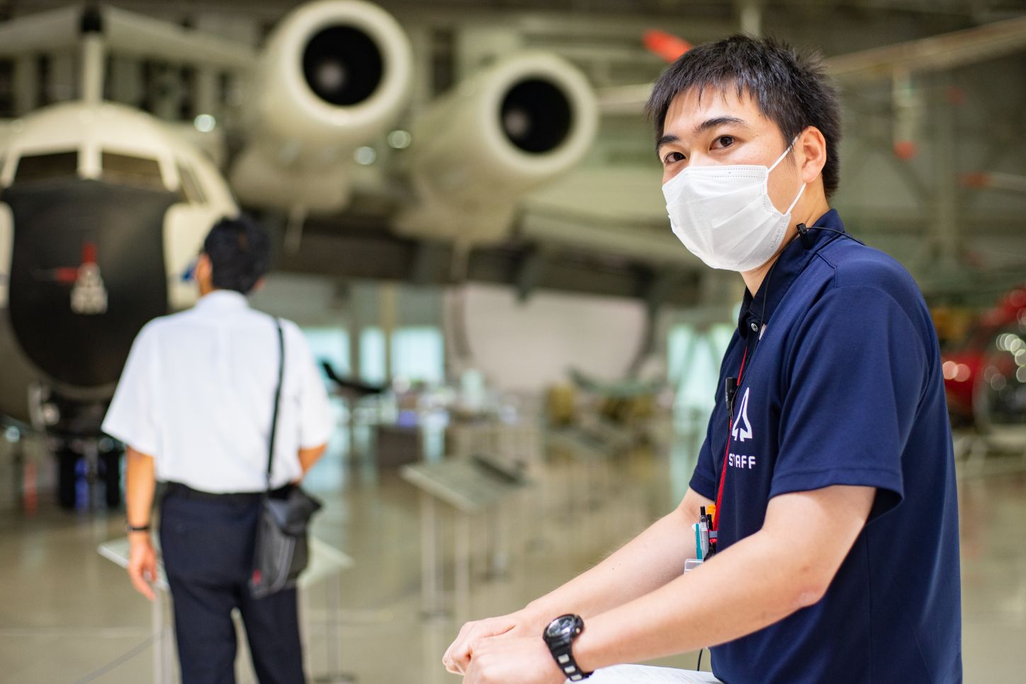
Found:
M 869 486 L 871 519 L 897 506 L 928 375 L 924 335 L 887 292 L 835 288 L 805 315 L 789 359 L 770 495 Z

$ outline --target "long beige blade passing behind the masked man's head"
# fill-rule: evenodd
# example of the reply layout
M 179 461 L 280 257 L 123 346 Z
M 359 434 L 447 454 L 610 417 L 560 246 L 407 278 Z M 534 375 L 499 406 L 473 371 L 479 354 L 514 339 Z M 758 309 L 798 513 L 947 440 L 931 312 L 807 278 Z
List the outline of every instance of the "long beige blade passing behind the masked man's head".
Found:
M 1026 16 L 841 54 L 826 59 L 826 65 L 835 79 L 847 84 L 952 69 L 1023 49 Z M 603 114 L 638 114 L 650 92 L 650 83 L 605 88 L 598 92 L 599 109 Z

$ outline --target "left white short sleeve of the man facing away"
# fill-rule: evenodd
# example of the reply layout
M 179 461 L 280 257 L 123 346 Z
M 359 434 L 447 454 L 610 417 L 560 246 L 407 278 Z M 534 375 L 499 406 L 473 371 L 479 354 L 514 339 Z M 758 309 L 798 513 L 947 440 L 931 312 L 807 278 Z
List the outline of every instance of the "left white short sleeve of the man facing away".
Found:
M 156 339 L 153 329 L 146 326 L 128 352 L 103 425 L 103 431 L 114 439 L 151 456 L 157 455 L 160 443 L 154 406 L 156 363 Z

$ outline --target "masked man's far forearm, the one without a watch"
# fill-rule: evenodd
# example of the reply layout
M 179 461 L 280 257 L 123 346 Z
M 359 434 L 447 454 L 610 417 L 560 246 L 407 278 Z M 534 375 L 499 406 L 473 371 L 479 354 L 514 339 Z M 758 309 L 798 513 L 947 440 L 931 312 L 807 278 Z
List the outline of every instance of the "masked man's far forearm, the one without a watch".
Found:
M 679 576 L 695 554 L 692 523 L 706 499 L 694 491 L 672 513 L 587 572 L 532 601 L 525 611 L 540 621 L 576 612 L 589 617 L 643 596 Z M 695 511 L 692 511 L 692 509 Z

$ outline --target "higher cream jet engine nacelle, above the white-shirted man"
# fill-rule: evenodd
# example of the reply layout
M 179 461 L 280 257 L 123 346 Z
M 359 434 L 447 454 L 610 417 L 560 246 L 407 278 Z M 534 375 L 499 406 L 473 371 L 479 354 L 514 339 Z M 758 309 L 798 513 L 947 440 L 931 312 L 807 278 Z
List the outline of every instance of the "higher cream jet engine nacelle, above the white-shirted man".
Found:
M 231 172 L 247 204 L 333 211 L 353 150 L 386 130 L 412 77 L 409 39 L 362 0 L 321 0 L 275 28 L 256 70 L 252 136 Z

